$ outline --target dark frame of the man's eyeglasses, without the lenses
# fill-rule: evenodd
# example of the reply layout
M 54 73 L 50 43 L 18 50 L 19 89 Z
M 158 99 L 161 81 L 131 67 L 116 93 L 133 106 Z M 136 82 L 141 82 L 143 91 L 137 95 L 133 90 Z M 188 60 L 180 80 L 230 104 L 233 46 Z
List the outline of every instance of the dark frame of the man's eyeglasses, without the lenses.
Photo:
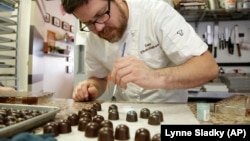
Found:
M 90 25 L 93 25 L 93 29 L 95 29 L 96 28 L 96 25 L 95 24 L 104 24 L 105 22 L 107 22 L 109 19 L 110 19 L 110 1 L 111 0 L 108 0 L 108 10 L 106 11 L 106 12 L 104 12 L 102 15 L 100 15 L 100 16 L 98 16 L 96 19 L 95 19 L 95 21 L 93 21 L 93 22 L 89 22 L 88 24 L 85 24 L 85 26 L 84 27 L 82 27 L 82 22 L 79 20 L 79 22 L 80 22 L 80 31 L 84 31 L 84 32 L 90 32 L 91 31 L 91 29 L 89 28 L 89 26 Z M 105 21 L 103 21 L 103 22 L 98 22 L 98 19 L 101 19 L 103 16 L 105 16 L 105 15 L 108 15 L 108 18 L 105 20 Z M 85 30 L 85 29 L 88 29 L 88 30 Z M 93 30 L 92 29 L 92 30 Z

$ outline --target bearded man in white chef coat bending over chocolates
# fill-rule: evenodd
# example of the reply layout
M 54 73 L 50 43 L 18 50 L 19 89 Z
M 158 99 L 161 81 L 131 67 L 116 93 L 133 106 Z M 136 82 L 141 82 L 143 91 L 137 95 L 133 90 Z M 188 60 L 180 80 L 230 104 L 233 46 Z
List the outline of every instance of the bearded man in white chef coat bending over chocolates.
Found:
M 187 102 L 185 89 L 218 75 L 207 45 L 166 2 L 62 0 L 62 5 L 89 31 L 84 60 L 88 79 L 76 86 L 75 101 L 98 98 L 110 75 L 122 89 L 116 95 L 120 100 Z

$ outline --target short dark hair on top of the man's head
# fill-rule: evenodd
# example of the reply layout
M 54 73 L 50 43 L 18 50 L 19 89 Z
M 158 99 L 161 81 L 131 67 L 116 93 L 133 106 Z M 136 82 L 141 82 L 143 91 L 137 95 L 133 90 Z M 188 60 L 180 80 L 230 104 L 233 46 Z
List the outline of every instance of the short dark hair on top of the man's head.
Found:
M 83 4 L 87 4 L 89 0 L 61 0 L 63 9 L 69 13 L 72 14 L 76 8 Z

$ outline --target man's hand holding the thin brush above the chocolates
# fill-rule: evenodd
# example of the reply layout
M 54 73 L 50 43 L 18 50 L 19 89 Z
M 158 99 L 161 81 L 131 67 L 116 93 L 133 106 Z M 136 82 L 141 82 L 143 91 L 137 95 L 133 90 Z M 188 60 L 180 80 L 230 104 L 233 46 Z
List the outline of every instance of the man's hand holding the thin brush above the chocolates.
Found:
M 143 88 L 156 88 L 155 71 L 147 66 L 142 60 L 126 56 L 117 59 L 111 72 L 111 81 L 126 89 L 127 83 L 132 82 Z

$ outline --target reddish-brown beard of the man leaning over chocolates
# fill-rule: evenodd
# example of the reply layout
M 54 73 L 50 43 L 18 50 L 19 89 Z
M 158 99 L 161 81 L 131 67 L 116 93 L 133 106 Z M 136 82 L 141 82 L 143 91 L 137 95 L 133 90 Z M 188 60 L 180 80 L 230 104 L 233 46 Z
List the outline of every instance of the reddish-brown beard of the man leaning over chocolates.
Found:
M 117 5 L 117 7 L 121 13 L 121 15 L 119 16 L 119 19 L 118 19 L 118 23 L 120 23 L 120 25 L 118 27 L 105 25 L 103 30 L 98 33 L 98 36 L 100 38 L 103 38 L 103 39 L 109 41 L 110 43 L 117 42 L 122 38 L 122 36 L 127 28 L 127 22 L 128 22 L 128 19 L 125 15 L 125 12 L 122 10 L 120 5 L 118 5 L 117 3 L 115 3 L 115 4 Z

